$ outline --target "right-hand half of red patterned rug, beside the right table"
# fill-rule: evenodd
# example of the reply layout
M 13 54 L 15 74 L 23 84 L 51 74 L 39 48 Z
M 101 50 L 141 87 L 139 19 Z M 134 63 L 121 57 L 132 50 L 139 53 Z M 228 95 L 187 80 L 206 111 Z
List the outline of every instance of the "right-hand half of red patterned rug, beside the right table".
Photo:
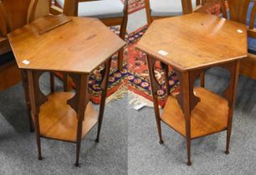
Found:
M 146 32 L 147 26 L 139 28 L 136 32 L 132 32 L 128 37 L 128 57 L 127 62 L 127 87 L 128 90 L 134 92 L 146 99 L 152 101 L 151 87 L 149 72 L 146 65 L 146 55 L 140 50 L 136 49 L 136 43 L 140 40 L 143 34 Z M 158 82 L 161 84 L 161 89 L 158 90 L 159 104 L 162 107 L 166 99 L 166 88 L 164 72 L 161 70 L 160 62 L 156 62 L 155 74 Z M 172 72 L 170 67 L 169 72 L 169 87 L 171 92 L 178 92 L 177 76 Z

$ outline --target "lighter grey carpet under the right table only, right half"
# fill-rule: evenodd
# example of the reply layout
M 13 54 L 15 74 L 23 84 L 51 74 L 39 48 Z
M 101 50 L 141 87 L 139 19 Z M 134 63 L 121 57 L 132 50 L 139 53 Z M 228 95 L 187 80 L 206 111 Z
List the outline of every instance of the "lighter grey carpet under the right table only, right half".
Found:
M 207 72 L 206 87 L 223 92 L 228 75 Z M 128 174 L 250 174 L 256 172 L 256 81 L 240 77 L 233 116 L 230 154 L 224 153 L 226 132 L 192 141 L 192 167 L 187 167 L 186 140 L 162 124 L 165 143 L 158 143 L 153 108 L 128 110 Z M 217 108 L 217 107 L 216 107 Z

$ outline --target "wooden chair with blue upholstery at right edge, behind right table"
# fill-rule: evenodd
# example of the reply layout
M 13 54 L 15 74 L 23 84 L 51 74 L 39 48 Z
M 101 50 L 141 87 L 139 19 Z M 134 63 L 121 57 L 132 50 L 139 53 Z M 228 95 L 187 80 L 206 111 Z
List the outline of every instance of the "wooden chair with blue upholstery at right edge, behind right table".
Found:
M 256 79 L 256 23 L 255 1 L 251 0 L 228 0 L 228 9 L 225 1 L 222 2 L 223 17 L 244 23 L 248 26 L 248 57 L 241 62 L 240 73 Z

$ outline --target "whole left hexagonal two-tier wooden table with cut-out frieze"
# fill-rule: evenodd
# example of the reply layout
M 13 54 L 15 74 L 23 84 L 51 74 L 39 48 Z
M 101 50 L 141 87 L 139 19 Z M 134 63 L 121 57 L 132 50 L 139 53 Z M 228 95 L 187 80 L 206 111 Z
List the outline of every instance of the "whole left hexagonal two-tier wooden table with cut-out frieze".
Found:
M 18 67 L 28 82 L 31 114 L 36 130 L 38 159 L 42 159 L 40 137 L 77 144 L 76 166 L 79 166 L 81 138 L 98 122 L 96 142 L 105 108 L 111 56 L 125 45 L 109 28 L 95 18 L 68 18 L 64 15 L 39 18 L 10 33 Z M 104 64 L 101 72 L 99 118 L 90 104 L 90 72 Z M 38 79 L 43 72 L 69 74 L 76 84 L 74 92 L 52 92 L 45 96 Z

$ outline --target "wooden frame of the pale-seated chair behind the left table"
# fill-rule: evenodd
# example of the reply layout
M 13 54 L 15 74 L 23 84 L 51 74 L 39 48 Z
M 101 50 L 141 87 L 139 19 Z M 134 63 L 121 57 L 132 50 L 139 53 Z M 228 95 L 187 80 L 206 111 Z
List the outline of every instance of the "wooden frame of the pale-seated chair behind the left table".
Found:
M 52 5 L 50 7 L 50 12 L 53 14 L 59 14 L 64 13 L 68 16 L 78 16 L 78 7 L 79 2 L 90 2 L 95 0 L 65 0 L 64 1 L 64 9 L 61 9 L 59 7 L 56 7 L 55 5 Z M 122 18 L 102 18 L 100 19 L 102 23 L 105 23 L 106 26 L 116 26 L 120 25 L 120 38 L 125 40 L 125 32 L 127 28 L 127 22 L 128 22 L 128 0 L 124 1 L 125 7 L 124 7 L 124 16 Z M 123 58 L 124 57 L 124 49 L 120 49 L 118 52 L 118 69 L 122 70 L 123 67 Z

